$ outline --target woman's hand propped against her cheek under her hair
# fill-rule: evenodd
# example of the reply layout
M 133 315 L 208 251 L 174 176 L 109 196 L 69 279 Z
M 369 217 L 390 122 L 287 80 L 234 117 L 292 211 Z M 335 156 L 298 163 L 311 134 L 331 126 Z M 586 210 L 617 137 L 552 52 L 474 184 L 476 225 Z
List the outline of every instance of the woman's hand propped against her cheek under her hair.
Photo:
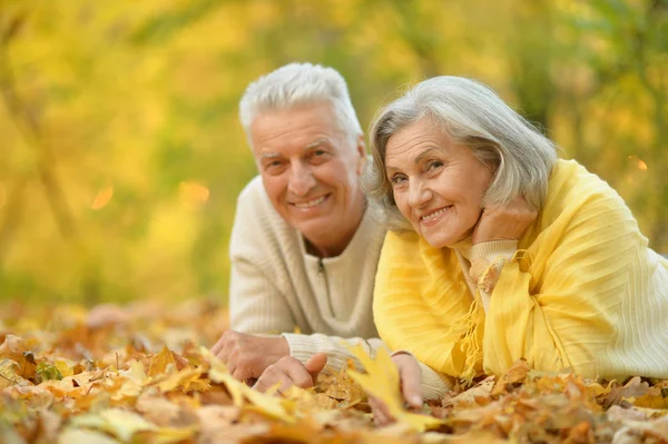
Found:
M 473 245 L 478 245 L 494 240 L 520 239 L 537 217 L 538 211 L 531 208 L 522 196 L 515 197 L 503 207 L 489 206 L 483 208 L 471 240 Z

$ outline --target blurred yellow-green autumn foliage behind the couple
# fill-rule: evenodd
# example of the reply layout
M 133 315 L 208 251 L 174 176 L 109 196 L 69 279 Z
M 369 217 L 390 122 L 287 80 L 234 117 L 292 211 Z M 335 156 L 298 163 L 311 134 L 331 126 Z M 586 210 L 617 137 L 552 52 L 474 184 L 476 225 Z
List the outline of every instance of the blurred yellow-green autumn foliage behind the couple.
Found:
M 668 253 L 667 0 L 0 0 L 0 299 L 225 300 L 237 103 L 291 61 L 340 70 L 364 127 L 481 79 Z

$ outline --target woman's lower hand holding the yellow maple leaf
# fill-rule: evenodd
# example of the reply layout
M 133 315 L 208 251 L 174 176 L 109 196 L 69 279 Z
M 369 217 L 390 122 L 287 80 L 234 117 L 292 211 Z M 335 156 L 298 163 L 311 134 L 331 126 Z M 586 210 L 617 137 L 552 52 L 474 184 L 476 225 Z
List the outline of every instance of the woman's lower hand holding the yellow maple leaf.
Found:
M 422 408 L 422 371 L 413 355 L 397 353 L 392 356 L 392 362 L 399 371 L 401 394 L 411 408 Z M 370 397 L 369 405 L 377 425 L 387 425 L 394 422 L 385 403 L 375 397 Z

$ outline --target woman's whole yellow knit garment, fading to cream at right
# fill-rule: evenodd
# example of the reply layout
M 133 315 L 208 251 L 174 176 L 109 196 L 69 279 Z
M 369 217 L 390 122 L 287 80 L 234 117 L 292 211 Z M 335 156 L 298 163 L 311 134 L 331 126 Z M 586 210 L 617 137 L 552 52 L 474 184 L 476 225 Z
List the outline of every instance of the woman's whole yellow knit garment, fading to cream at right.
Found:
M 455 325 L 474 299 L 462 251 L 387 233 L 374 293 L 381 338 L 455 377 L 499 375 L 523 357 L 584 377 L 668 378 L 668 260 L 607 182 L 559 160 L 519 249 L 466 334 Z

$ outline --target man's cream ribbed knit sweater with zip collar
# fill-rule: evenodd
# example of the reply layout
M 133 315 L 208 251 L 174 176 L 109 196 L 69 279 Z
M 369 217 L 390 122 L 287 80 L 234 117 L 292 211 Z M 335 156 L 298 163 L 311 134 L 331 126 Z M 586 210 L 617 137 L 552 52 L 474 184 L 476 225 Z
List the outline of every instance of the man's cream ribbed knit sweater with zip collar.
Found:
M 291 356 L 305 363 L 324 352 L 335 371 L 353 358 L 346 345 L 361 343 L 373 355 L 383 346 L 372 313 L 385 235 L 379 215 L 370 205 L 346 249 L 321 259 L 306 253 L 303 236 L 276 213 L 262 178 L 254 178 L 239 195 L 232 230 L 232 328 L 283 334 Z

